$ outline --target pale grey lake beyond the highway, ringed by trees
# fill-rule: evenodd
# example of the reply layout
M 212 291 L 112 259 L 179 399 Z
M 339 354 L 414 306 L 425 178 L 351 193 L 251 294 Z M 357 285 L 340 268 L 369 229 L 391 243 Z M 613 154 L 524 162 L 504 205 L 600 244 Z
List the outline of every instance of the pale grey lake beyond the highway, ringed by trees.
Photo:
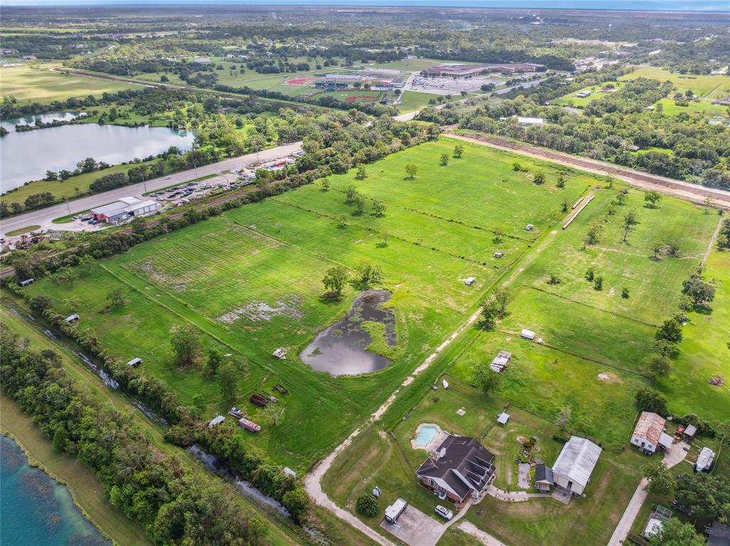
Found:
M 65 112 L 64 115 L 73 113 Z M 4 121 L 15 126 L 13 122 L 17 120 Z M 72 171 L 79 161 L 90 157 L 113 165 L 157 155 L 170 146 L 187 151 L 194 138 L 191 131 L 173 131 L 166 127 L 134 128 L 97 123 L 12 132 L 0 137 L 0 186 L 6 192 L 31 180 L 41 180 L 46 171 Z

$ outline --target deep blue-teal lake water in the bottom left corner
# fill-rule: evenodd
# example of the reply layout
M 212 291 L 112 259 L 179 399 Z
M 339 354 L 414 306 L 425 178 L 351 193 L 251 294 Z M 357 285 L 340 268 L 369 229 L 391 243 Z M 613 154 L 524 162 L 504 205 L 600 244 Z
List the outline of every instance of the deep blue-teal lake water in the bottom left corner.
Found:
M 0 544 L 2 546 L 111 546 L 74 504 L 65 485 L 0 435 Z

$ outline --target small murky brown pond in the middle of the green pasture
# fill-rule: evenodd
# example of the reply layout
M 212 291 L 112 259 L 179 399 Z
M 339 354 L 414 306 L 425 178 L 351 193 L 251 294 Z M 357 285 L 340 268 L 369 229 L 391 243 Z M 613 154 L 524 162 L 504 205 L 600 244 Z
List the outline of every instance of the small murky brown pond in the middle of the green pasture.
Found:
M 386 290 L 361 293 L 345 318 L 320 332 L 307 345 L 299 355 L 301 361 L 317 372 L 328 372 L 334 376 L 377 372 L 391 364 L 385 356 L 367 350 L 372 338 L 361 328 L 364 321 L 382 323 L 385 326 L 385 342 L 395 347 L 395 315 L 392 309 L 380 308 L 389 299 L 391 293 Z

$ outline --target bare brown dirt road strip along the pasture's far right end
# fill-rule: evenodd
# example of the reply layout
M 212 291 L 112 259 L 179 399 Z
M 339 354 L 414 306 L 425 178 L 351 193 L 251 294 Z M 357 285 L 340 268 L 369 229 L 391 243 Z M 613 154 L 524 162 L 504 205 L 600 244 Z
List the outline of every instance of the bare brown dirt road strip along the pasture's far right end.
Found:
M 480 136 L 465 137 L 461 134 L 446 133 L 445 136 L 464 140 L 465 142 L 473 142 L 484 146 L 496 148 L 498 150 L 506 150 L 509 152 L 528 155 L 532 158 L 544 159 L 553 163 L 575 167 L 582 171 L 592 172 L 594 174 L 604 174 L 610 177 L 621 179 L 629 182 L 645 190 L 656 190 L 659 193 L 679 197 L 698 204 L 704 204 L 707 197 L 715 207 L 730 209 L 730 191 L 718 190 L 715 188 L 705 188 L 701 185 L 682 182 L 681 180 L 672 180 L 671 178 L 656 176 L 645 172 L 635 171 L 628 167 L 605 163 L 604 161 L 596 161 L 595 159 L 580 158 L 567 153 L 556 152 L 553 150 L 545 150 L 537 146 L 531 146 L 518 142 L 500 139 L 498 137 Z

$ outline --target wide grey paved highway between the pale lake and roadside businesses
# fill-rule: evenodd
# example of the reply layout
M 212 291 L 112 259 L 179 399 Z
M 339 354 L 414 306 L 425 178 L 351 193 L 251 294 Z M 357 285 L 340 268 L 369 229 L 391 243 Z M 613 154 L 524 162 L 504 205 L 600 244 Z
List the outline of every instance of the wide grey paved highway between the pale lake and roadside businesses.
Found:
M 202 177 L 206 174 L 218 174 L 222 171 L 240 169 L 242 166 L 248 166 L 256 161 L 272 161 L 273 159 L 283 158 L 286 155 L 298 152 L 299 150 L 301 150 L 301 142 L 293 142 L 291 144 L 269 148 L 269 150 L 264 150 L 259 153 L 240 155 L 237 158 L 224 159 L 223 161 L 218 161 L 218 163 L 199 166 L 197 173 L 196 169 L 189 169 L 187 171 L 172 174 L 169 179 L 167 177 L 160 177 L 154 178 L 153 180 L 147 180 L 147 182 L 145 182 L 147 187 L 146 190 L 145 183 L 140 182 L 139 184 L 105 191 L 104 193 L 97 193 L 93 196 L 74 199 L 74 201 L 69 201 L 68 205 L 66 203 L 61 203 L 53 205 L 53 207 L 46 207 L 45 209 L 26 212 L 25 214 L 3 220 L 0 226 L 0 232 L 4 237 L 8 231 L 26 228 L 28 226 L 38 225 L 43 229 L 61 228 L 62 226 L 54 224 L 53 220 L 55 218 L 61 218 L 61 216 L 68 215 L 69 207 L 72 214 L 75 214 L 82 210 L 111 203 L 112 201 L 116 201 L 122 197 L 139 197 L 142 196 L 142 193 L 146 193 L 147 191 L 155 191 L 159 188 L 166 188 L 173 184 L 182 184 L 183 182 L 188 182 L 188 180 L 193 180 L 196 177 Z M 101 176 L 101 174 L 99 174 L 99 176 Z

